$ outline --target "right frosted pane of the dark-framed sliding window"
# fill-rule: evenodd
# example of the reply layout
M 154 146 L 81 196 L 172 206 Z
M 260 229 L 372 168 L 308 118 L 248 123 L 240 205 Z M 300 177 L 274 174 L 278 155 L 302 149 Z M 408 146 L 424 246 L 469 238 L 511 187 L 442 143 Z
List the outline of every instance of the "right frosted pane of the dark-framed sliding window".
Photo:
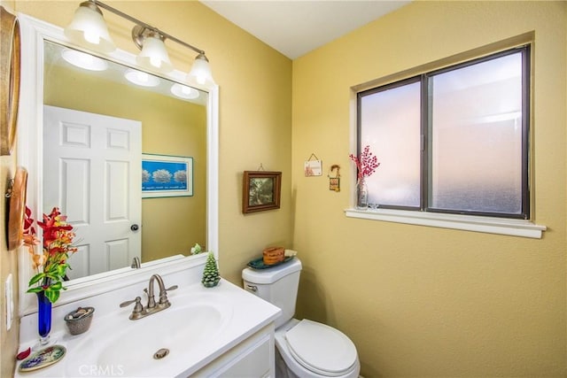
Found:
M 430 79 L 430 205 L 522 212 L 522 55 Z

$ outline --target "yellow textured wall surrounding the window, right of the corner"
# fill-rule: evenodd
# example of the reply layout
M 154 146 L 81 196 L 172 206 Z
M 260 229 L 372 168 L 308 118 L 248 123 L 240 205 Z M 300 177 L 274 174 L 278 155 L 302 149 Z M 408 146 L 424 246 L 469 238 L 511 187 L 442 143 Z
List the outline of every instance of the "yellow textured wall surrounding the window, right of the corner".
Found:
M 345 331 L 361 374 L 567 374 L 566 25 L 565 2 L 416 2 L 293 61 L 299 315 Z M 532 31 L 533 205 L 548 226 L 543 238 L 346 218 L 350 88 Z M 303 176 L 312 152 L 342 167 L 339 193 L 326 177 Z

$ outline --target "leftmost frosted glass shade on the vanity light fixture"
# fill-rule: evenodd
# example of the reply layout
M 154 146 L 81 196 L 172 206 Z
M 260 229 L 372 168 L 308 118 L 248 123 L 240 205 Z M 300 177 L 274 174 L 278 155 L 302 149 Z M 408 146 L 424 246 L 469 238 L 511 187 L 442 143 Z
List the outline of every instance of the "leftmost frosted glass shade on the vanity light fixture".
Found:
M 88 4 L 83 3 L 77 8 L 64 33 L 71 42 L 90 50 L 105 53 L 116 50 L 102 14 L 97 9 L 90 8 Z

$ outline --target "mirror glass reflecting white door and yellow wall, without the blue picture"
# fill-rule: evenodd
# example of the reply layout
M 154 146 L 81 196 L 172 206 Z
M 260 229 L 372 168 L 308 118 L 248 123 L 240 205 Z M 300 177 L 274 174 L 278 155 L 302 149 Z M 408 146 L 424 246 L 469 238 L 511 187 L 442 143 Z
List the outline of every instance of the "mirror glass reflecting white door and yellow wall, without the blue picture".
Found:
M 129 266 L 135 256 L 144 263 L 189 255 L 195 243 L 206 248 L 207 93 L 43 43 L 42 207 L 58 206 L 76 230 L 69 278 Z M 97 66 L 74 66 L 69 56 Z M 130 139 L 132 120 L 141 143 Z M 142 199 L 141 153 L 193 158 L 193 196 Z

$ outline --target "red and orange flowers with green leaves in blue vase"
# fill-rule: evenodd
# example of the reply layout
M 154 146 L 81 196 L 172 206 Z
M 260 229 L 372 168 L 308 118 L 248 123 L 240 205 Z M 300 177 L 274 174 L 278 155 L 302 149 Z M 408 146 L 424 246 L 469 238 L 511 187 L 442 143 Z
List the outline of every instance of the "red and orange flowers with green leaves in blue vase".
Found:
M 66 222 L 67 217 L 59 212 L 57 207 L 50 214 L 43 214 L 43 222 L 37 221 L 37 225 L 43 229 L 42 253 L 35 253 L 35 245 L 41 241 L 35 236 L 35 220 L 32 212 L 26 206 L 24 227 L 22 230 L 23 244 L 27 247 L 34 269 L 37 271 L 29 280 L 28 293 L 43 291 L 51 303 L 58 300 L 59 292 L 66 279 L 67 258 L 77 249 L 72 245 L 74 239 L 73 226 Z M 36 286 L 35 286 L 36 285 Z

